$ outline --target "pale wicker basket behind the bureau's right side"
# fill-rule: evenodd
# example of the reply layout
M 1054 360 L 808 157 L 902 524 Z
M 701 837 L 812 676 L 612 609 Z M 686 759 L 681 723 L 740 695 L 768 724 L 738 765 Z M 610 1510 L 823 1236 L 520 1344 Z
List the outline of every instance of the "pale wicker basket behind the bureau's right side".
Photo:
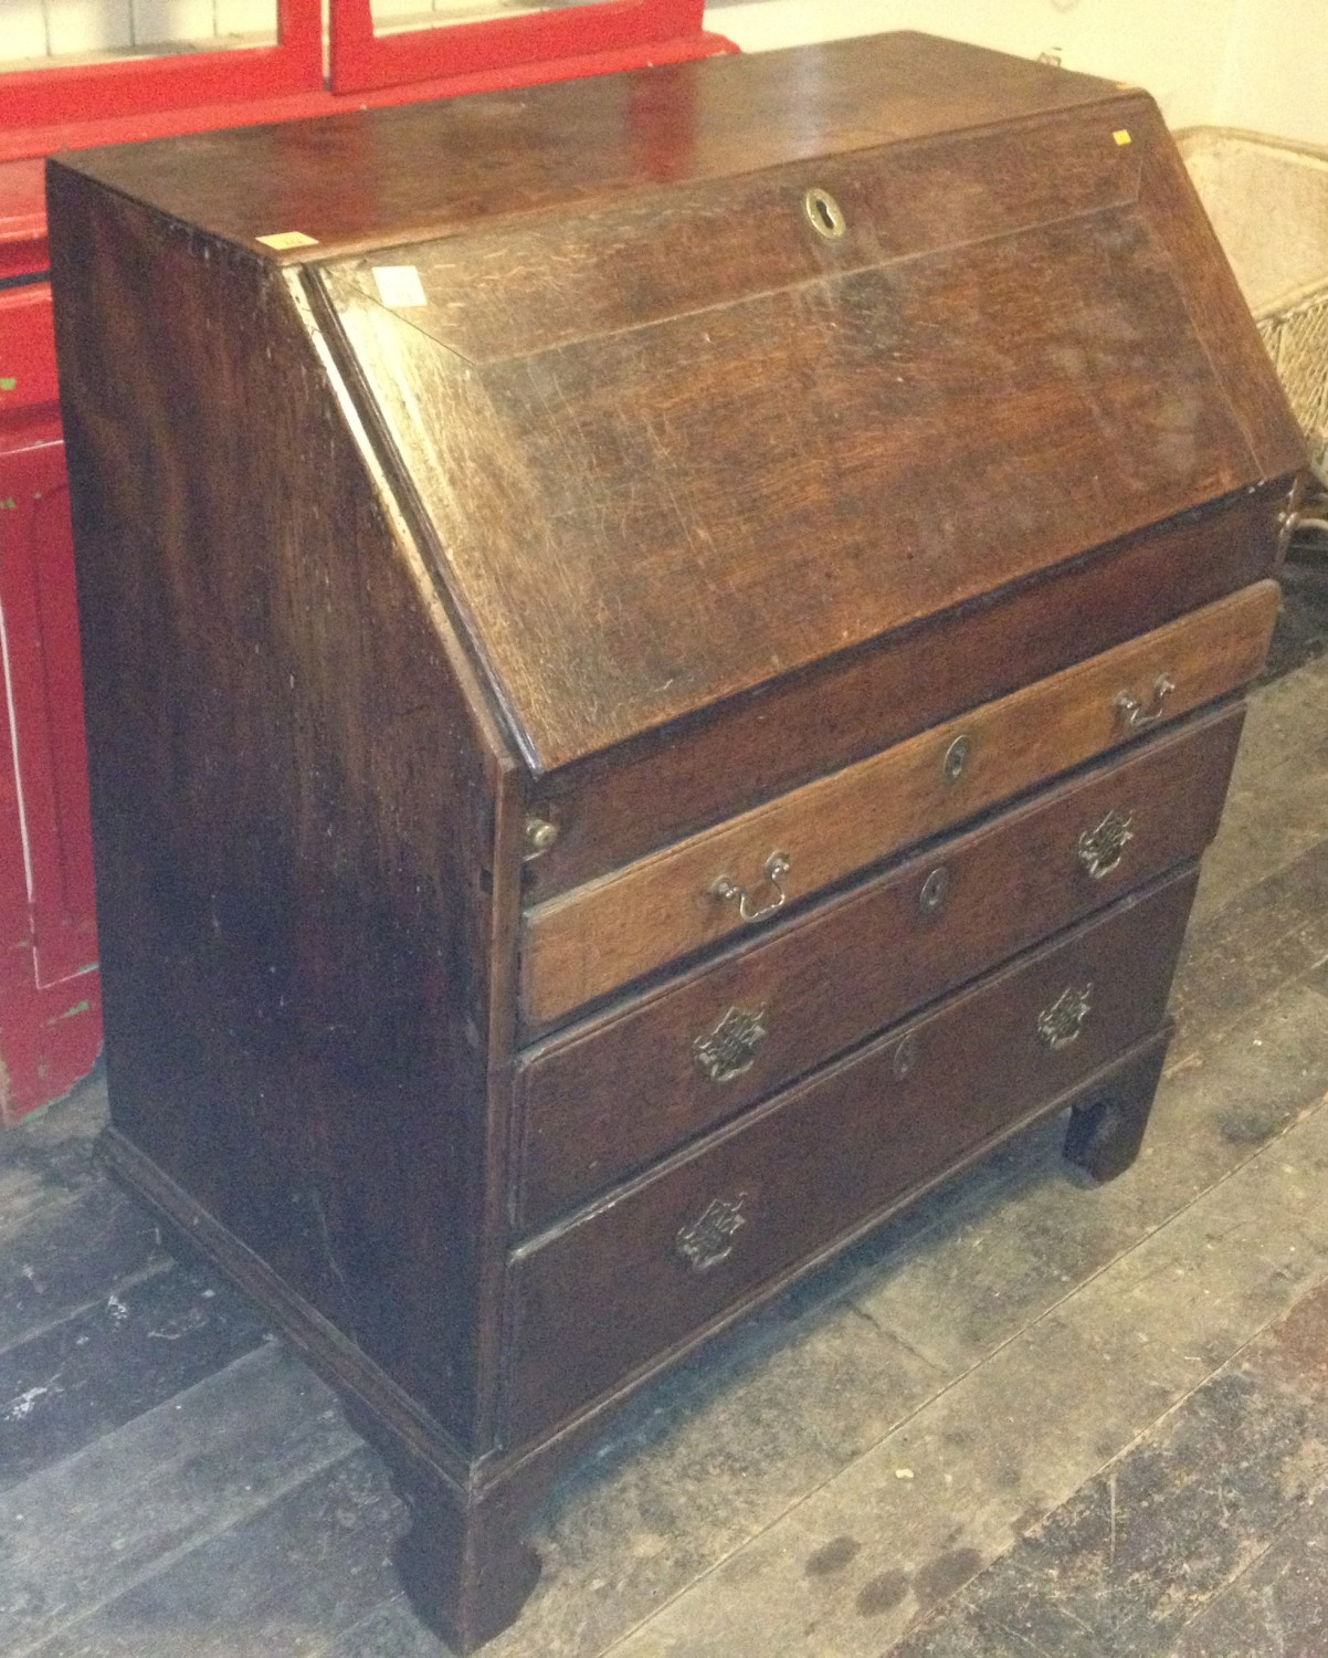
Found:
M 1177 143 L 1328 484 L 1328 151 L 1204 126 Z

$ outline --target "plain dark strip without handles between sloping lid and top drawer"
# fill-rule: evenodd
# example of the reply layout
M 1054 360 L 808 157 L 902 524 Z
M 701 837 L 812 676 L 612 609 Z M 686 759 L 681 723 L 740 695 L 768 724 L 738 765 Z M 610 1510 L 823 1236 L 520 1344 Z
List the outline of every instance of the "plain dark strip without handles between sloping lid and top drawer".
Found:
M 1290 479 L 1129 536 L 980 604 L 542 778 L 557 841 L 527 904 L 1096 657 L 1273 572 Z

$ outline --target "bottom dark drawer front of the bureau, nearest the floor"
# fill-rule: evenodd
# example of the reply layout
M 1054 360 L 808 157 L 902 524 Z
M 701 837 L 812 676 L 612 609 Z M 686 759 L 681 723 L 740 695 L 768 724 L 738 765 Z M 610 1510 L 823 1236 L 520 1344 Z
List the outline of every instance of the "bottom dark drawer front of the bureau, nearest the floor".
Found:
M 1162 1020 L 1192 867 L 897 1026 L 511 1263 L 532 1437 L 1038 1114 Z

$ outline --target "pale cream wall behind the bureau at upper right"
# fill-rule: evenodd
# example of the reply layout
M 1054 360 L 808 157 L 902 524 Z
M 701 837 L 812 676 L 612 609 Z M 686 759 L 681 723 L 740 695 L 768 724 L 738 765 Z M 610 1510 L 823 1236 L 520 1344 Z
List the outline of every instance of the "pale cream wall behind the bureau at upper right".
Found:
M 1174 128 L 1328 144 L 1328 0 L 716 0 L 706 23 L 744 51 L 887 28 L 1058 51 L 1068 70 L 1146 86 Z

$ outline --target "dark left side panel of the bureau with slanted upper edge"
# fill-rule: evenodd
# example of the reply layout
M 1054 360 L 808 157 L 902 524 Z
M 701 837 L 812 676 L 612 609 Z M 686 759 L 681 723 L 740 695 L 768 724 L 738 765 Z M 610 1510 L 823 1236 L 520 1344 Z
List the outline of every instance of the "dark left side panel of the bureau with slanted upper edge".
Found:
M 474 1446 L 511 771 L 280 274 L 51 239 L 114 1127 Z

